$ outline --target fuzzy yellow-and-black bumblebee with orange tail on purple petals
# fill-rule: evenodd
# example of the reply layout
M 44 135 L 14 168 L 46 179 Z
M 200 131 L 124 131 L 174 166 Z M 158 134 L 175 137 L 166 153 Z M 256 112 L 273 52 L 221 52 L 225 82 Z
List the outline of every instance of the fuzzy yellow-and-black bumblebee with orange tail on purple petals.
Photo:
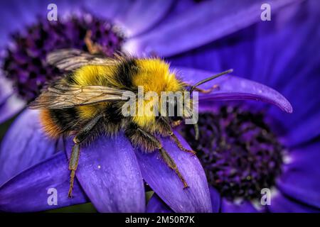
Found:
M 166 165 L 181 179 L 183 187 L 188 187 L 158 138 L 159 135 L 170 137 L 183 152 L 194 155 L 193 150 L 183 148 L 172 130 L 187 116 L 123 116 L 121 109 L 126 101 L 123 95 L 127 91 L 137 93 L 139 86 L 144 87 L 145 92 L 158 94 L 187 90 L 210 92 L 197 87 L 231 70 L 191 86 L 178 79 L 169 70 L 169 64 L 159 58 L 139 59 L 127 55 L 109 58 L 96 53 L 63 49 L 51 52 L 47 61 L 69 73 L 43 90 L 29 108 L 41 109 L 41 123 L 50 137 L 74 136 L 69 160 L 69 197 L 72 197 L 80 147 L 92 142 L 98 135 L 111 137 L 120 130 L 124 131 L 133 147 L 141 148 L 146 153 L 159 151 Z

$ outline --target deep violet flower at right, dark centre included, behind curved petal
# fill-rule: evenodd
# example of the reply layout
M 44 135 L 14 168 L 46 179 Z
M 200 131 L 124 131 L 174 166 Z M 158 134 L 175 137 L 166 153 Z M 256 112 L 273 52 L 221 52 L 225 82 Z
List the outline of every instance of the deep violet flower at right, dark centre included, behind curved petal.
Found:
M 236 75 L 282 92 L 294 109 L 293 114 L 284 115 L 272 106 L 217 104 L 210 101 L 215 94 L 203 96 L 199 115 L 203 137 L 193 141 L 189 127 L 181 132 L 191 148 L 198 150 L 213 211 L 320 211 L 318 21 L 319 2 L 304 1 L 279 11 L 270 23 L 257 23 L 205 47 L 169 57 L 174 65 L 203 70 L 232 66 Z M 193 74 L 202 73 L 204 78 L 208 72 L 193 70 Z M 213 83 L 220 85 L 223 79 L 227 80 Z M 264 188 L 271 191 L 267 206 L 261 204 Z M 147 211 L 171 209 L 155 195 Z

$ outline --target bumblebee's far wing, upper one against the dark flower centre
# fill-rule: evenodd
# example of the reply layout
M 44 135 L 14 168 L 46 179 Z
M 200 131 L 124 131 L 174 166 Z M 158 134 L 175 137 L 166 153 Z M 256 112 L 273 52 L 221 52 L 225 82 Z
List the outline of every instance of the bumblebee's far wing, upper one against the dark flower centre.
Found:
M 116 59 L 91 55 L 76 49 L 55 50 L 47 55 L 46 60 L 50 65 L 55 65 L 60 70 L 68 71 L 76 70 L 84 65 L 114 65 L 117 63 Z

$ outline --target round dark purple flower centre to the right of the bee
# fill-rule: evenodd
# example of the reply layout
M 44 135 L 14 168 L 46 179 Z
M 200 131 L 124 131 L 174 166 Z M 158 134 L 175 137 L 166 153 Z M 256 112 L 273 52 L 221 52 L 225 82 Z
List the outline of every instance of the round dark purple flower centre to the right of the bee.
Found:
M 199 114 L 199 140 L 192 125 L 181 133 L 198 152 L 208 182 L 227 199 L 257 199 L 281 173 L 283 146 L 265 123 L 264 114 L 223 106 Z

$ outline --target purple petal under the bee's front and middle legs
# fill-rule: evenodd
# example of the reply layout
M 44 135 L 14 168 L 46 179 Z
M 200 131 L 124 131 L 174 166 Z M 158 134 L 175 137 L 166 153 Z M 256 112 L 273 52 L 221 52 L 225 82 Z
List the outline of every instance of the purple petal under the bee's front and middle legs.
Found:
M 191 149 L 180 135 L 177 136 L 185 148 Z M 136 150 L 140 170 L 146 183 L 176 213 L 211 212 L 208 182 L 198 158 L 179 150 L 169 138 L 163 139 L 162 145 L 176 162 L 189 187 L 183 189 L 181 180 L 174 170 L 164 163 L 159 152 L 146 154 Z

